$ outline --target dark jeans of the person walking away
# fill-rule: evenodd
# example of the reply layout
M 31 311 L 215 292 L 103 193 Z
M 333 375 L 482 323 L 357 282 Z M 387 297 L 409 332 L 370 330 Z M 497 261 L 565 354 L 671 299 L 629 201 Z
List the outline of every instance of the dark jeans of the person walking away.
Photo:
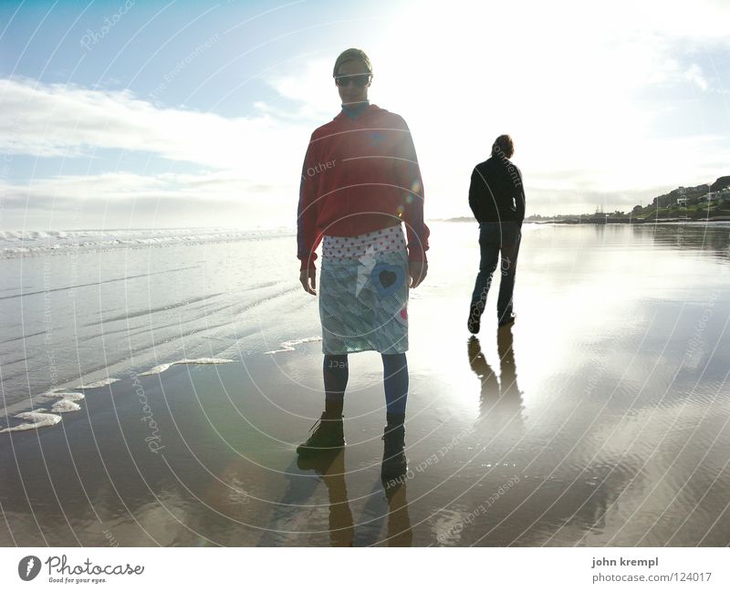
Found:
M 512 314 L 512 293 L 515 289 L 517 254 L 521 238 L 521 225 L 516 222 L 479 224 L 479 249 L 482 256 L 472 294 L 472 308 L 475 307 L 479 315 L 484 312 L 486 295 L 489 292 L 489 286 L 492 285 L 500 254 L 502 279 L 499 282 L 499 297 L 496 302 L 497 319 L 501 320 Z

